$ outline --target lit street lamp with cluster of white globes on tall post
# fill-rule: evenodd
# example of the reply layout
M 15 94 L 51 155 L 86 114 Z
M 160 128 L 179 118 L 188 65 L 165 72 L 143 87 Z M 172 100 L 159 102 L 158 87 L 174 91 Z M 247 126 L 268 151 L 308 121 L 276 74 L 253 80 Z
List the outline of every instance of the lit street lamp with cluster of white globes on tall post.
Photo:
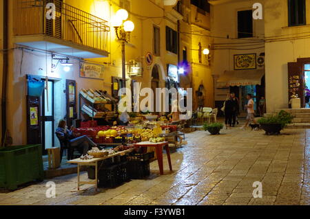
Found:
M 134 31 L 134 23 L 132 21 L 127 21 L 127 19 L 128 12 L 125 9 L 120 9 L 116 12 L 116 16 L 114 16 L 114 19 L 112 20 L 116 37 L 121 41 L 122 46 L 122 88 L 126 87 L 125 43 L 130 41 L 130 34 Z

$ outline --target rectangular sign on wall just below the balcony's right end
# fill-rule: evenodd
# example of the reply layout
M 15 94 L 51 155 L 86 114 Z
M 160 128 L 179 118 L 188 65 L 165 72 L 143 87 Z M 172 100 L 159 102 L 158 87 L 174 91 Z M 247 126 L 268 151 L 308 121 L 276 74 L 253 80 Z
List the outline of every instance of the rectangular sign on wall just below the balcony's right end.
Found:
M 103 80 L 103 73 L 105 67 L 103 65 L 96 65 L 87 62 L 80 63 L 80 77 L 81 78 L 94 78 Z

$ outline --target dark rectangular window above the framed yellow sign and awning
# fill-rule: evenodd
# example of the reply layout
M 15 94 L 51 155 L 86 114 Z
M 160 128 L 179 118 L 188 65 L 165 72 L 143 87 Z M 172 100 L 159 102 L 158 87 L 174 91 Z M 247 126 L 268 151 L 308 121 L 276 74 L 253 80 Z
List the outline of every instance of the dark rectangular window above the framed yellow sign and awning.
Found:
M 245 10 L 238 12 L 238 38 L 253 37 L 253 12 Z

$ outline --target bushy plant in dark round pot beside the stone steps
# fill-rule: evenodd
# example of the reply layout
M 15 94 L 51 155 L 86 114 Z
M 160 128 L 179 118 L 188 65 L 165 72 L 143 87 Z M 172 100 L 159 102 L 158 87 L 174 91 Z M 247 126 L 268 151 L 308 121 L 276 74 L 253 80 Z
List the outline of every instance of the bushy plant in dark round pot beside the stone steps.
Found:
M 280 111 L 276 115 L 269 115 L 258 119 L 258 123 L 262 130 L 265 130 L 266 135 L 280 135 L 280 132 L 288 124 L 293 121 L 293 115 L 285 111 Z

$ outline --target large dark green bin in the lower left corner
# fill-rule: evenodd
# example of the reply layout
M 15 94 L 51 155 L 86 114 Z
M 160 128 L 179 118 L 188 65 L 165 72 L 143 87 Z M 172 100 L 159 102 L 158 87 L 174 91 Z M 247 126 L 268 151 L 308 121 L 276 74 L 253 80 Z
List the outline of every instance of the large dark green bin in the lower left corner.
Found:
M 0 149 L 0 187 L 14 190 L 19 185 L 43 181 L 41 145 L 12 146 Z

